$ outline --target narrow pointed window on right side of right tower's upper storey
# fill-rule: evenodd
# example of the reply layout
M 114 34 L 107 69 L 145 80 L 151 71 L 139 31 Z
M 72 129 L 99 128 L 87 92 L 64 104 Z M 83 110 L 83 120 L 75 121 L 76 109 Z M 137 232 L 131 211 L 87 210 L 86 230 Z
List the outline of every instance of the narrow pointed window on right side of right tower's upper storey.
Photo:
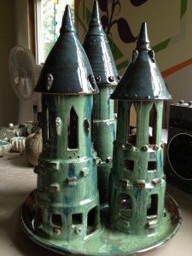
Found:
M 149 144 L 156 144 L 157 135 L 157 110 L 153 105 L 149 114 Z

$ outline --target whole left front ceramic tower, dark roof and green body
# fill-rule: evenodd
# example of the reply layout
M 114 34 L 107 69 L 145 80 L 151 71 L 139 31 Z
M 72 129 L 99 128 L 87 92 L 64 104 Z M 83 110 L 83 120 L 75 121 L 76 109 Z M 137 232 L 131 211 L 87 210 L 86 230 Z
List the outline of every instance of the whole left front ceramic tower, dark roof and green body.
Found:
M 53 243 L 82 240 L 99 226 L 96 160 L 90 138 L 92 95 L 98 89 L 68 6 L 36 91 L 42 93 L 43 153 L 35 168 L 35 234 Z

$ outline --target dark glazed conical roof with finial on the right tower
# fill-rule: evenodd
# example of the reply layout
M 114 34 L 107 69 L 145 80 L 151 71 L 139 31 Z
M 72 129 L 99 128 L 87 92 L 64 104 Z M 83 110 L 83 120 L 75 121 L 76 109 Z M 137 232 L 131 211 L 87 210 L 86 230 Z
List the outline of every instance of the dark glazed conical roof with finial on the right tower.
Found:
M 149 47 L 147 24 L 143 22 L 137 48 L 111 99 L 127 101 L 171 100 Z

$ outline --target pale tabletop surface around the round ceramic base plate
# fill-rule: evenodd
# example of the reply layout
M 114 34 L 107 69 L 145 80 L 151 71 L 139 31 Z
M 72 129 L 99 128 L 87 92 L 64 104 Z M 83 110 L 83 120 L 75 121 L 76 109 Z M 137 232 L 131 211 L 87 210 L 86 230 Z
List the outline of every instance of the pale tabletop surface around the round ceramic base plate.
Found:
M 20 230 L 20 205 L 34 188 L 36 175 L 23 155 L 12 153 L 0 159 L 0 255 L 57 255 L 29 241 Z M 170 242 L 146 256 L 192 256 L 192 195 L 169 190 L 181 207 L 183 224 Z

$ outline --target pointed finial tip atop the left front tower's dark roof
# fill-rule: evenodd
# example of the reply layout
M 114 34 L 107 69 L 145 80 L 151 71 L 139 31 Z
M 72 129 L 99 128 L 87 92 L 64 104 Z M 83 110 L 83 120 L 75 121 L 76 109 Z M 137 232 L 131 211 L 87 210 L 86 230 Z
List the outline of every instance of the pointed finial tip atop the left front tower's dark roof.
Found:
M 76 32 L 73 24 L 72 14 L 70 6 L 67 4 L 66 9 L 62 18 L 61 33 L 63 32 Z

